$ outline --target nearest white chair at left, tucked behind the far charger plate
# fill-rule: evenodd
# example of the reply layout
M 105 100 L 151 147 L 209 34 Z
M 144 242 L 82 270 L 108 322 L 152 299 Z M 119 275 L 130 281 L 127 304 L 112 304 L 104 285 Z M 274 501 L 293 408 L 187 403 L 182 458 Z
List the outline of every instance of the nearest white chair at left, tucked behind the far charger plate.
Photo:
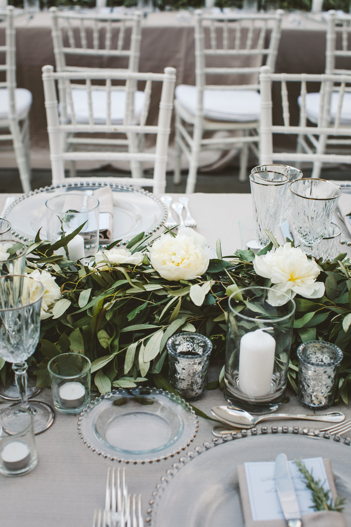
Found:
M 47 119 L 47 130 L 49 134 L 50 159 L 53 174 L 53 184 L 62 182 L 65 178 L 65 161 L 80 160 L 124 160 L 124 161 L 154 161 L 153 179 L 131 179 L 115 178 L 123 183 L 133 183 L 142 187 L 153 187 L 154 192 L 163 193 L 166 187 L 166 164 L 169 132 L 171 129 L 171 116 L 173 109 L 173 96 L 175 85 L 176 70 L 173 67 L 166 67 L 164 73 L 133 73 L 126 70 L 85 70 L 75 72 L 57 72 L 54 73 L 53 66 L 43 67 L 43 83 L 45 94 L 45 108 Z M 85 84 L 74 84 L 72 81 L 85 81 Z M 58 102 L 56 97 L 55 81 L 62 83 L 65 89 L 65 97 L 68 101 L 67 113 L 70 115 L 69 122 L 63 122 L 58 112 Z M 98 85 L 92 84 L 92 81 L 98 81 Z M 137 83 L 145 81 L 145 90 L 143 105 L 140 108 L 138 121 L 131 119 L 124 120 L 119 124 L 112 115 L 114 108 L 114 94 L 123 86 L 115 86 L 113 81 L 124 81 Z M 102 85 L 102 82 L 105 85 Z M 162 82 L 161 102 L 159 104 L 159 114 L 157 126 L 146 125 L 146 119 L 149 109 L 150 97 L 152 92 L 152 83 Z M 82 97 L 75 101 L 73 97 L 74 90 L 81 90 Z M 93 94 L 96 90 L 105 93 L 105 106 L 101 112 L 101 101 L 99 101 L 99 123 L 94 120 L 96 110 L 96 101 Z M 78 102 L 78 105 L 75 104 Z M 127 104 L 128 105 L 128 104 Z M 137 105 L 135 105 L 136 107 Z M 139 107 L 138 107 L 139 108 Z M 79 118 L 81 113 L 87 113 L 88 121 Z M 95 112 L 96 115 L 96 112 Z M 144 152 L 109 152 L 105 150 L 93 151 L 91 140 L 81 145 L 87 145 L 87 151 L 74 152 L 65 148 L 66 141 L 64 135 L 71 137 L 76 133 L 124 133 L 128 134 L 156 134 L 156 151 L 155 153 Z M 109 144 L 115 144 L 113 139 L 96 139 L 95 145 L 106 147 Z M 69 142 L 69 139 L 68 139 Z

